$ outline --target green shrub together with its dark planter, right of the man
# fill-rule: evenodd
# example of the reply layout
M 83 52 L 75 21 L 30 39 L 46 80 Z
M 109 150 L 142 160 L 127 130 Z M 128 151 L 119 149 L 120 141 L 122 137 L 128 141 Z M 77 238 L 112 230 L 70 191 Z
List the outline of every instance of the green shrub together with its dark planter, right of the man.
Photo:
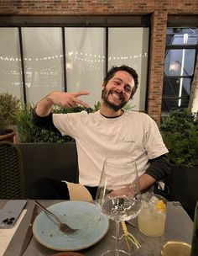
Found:
M 190 109 L 172 110 L 159 128 L 171 163 L 166 179 L 169 199 L 180 201 L 193 220 L 198 200 L 198 113 Z

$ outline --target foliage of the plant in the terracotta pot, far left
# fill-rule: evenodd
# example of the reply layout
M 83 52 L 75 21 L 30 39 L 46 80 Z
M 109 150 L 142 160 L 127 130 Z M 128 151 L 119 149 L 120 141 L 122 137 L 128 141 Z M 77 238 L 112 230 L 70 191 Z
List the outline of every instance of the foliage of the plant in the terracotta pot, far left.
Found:
M 21 101 L 13 94 L 0 93 L 0 135 L 8 130 L 10 125 L 16 124 L 16 115 Z

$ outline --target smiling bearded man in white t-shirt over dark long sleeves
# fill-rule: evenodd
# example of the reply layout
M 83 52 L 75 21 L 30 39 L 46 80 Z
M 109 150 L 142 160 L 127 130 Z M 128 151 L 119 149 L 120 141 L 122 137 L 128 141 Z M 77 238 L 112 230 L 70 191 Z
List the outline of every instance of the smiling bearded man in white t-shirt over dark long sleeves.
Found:
M 93 198 L 105 157 L 133 157 L 137 163 L 142 191 L 169 173 L 169 160 L 165 155 L 168 150 L 154 120 L 146 114 L 122 109 L 133 98 L 137 88 L 138 74 L 133 68 L 125 65 L 112 67 L 102 83 L 101 109 L 95 113 L 51 114 L 54 104 L 89 108 L 79 99 L 81 95 L 88 95 L 88 92 L 52 92 L 39 101 L 33 111 L 35 125 L 75 138 L 79 181 L 89 189 Z M 65 183 L 50 180 L 48 185 L 43 186 L 45 181 L 35 184 L 32 197 L 49 199 L 57 195 L 55 199 L 65 199 L 68 195 Z M 41 186 L 44 191 L 40 192 Z

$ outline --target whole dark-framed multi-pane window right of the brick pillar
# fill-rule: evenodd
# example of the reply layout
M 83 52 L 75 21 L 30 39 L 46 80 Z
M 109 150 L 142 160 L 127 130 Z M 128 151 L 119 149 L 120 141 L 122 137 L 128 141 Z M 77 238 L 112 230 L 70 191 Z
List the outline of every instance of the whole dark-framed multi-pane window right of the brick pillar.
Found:
M 197 28 L 167 29 L 162 115 L 188 107 L 197 51 Z

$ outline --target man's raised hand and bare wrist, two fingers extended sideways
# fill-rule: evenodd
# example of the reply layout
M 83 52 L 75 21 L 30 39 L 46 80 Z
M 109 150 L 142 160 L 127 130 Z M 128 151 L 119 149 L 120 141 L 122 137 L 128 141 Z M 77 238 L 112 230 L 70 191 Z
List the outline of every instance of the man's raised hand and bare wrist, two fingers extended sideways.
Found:
M 91 108 L 89 104 L 86 104 L 78 97 L 88 95 L 89 92 L 81 91 L 77 93 L 64 93 L 64 92 L 52 92 L 44 99 L 41 99 L 36 106 L 36 113 L 39 116 L 47 116 L 50 114 L 51 108 L 54 104 L 58 104 L 61 107 L 74 108 L 81 105 L 85 108 Z

